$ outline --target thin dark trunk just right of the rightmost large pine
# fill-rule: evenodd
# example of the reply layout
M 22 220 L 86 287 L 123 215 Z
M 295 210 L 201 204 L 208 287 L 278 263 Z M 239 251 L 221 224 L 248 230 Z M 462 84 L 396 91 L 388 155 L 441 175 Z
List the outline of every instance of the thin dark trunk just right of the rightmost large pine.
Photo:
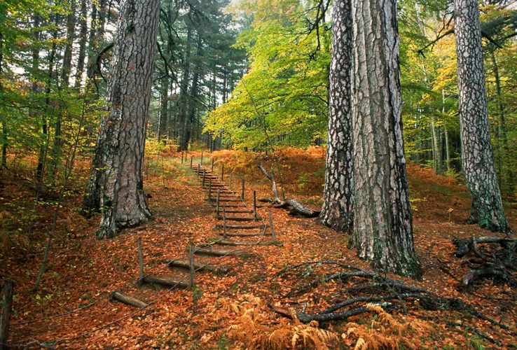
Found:
M 494 66 L 495 92 L 497 93 L 497 108 L 499 109 L 499 123 L 497 123 L 497 136 L 502 143 L 502 149 L 500 150 L 502 155 L 500 156 L 500 158 L 504 160 L 507 189 L 509 193 L 513 193 L 513 171 L 511 167 L 511 159 L 509 159 L 508 137 L 506 134 L 506 111 L 504 108 L 504 104 L 502 102 L 501 77 L 499 76 L 499 66 L 497 65 L 497 59 L 495 58 L 494 52 L 492 52 L 491 58 L 492 64 Z

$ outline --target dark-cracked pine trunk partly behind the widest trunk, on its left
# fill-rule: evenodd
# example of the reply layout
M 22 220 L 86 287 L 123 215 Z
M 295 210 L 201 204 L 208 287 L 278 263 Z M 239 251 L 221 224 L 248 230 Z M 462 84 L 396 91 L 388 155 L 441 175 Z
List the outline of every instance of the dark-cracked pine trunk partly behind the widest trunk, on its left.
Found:
M 352 230 L 352 139 L 350 68 L 352 15 L 350 0 L 335 0 L 329 89 L 329 129 L 325 189 L 319 220 L 336 231 Z

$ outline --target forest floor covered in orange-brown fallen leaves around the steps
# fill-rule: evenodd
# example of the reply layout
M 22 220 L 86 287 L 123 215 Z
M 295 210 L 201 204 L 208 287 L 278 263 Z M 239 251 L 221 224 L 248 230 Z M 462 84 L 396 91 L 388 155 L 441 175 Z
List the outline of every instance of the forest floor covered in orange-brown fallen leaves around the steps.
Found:
M 193 153 L 193 156 L 196 164 L 200 153 Z M 314 209 L 320 207 L 323 156 L 321 148 L 308 151 L 290 149 L 280 155 L 287 197 L 294 197 Z M 322 279 L 331 268 L 322 266 L 304 270 L 303 274 L 273 279 L 275 272 L 310 260 L 337 260 L 370 270 L 366 262 L 357 258 L 354 250 L 347 248 L 347 235 L 319 225 L 316 219 L 293 217 L 288 211 L 273 209 L 280 244 L 249 246 L 245 248 L 246 255 L 220 258 L 218 265 L 229 267 L 228 274 L 196 274 L 196 288 L 193 290 L 169 291 L 137 286 L 138 237 L 143 242 L 146 273 L 160 274 L 167 272 L 167 260 L 186 255 L 190 240 L 202 244 L 214 241 L 218 236 L 214 232 L 218 223 L 214 209 L 206 201 L 198 179 L 188 167 L 180 164 L 180 158 L 181 155 L 167 154 L 146 162 L 144 190 L 149 194 L 153 218 L 137 228 L 123 230 L 118 237 L 101 241 L 95 238 L 99 217 L 87 220 L 78 214 L 81 191 L 88 174 L 88 162 L 79 160 L 57 223 L 48 267 L 38 292 L 34 294 L 29 290 L 43 259 L 56 191 L 43 191 L 42 203 L 36 211 L 34 237 L 31 238 L 36 243 L 27 248 L 26 232 L 34 197 L 34 185 L 27 179 L 27 169 L 34 169 L 34 164 L 25 160 L 6 172 L 0 188 L 0 248 L 3 248 L 0 279 L 2 282 L 15 282 L 11 343 L 23 345 L 36 340 L 43 346 L 57 349 L 244 349 L 261 342 L 266 344 L 264 339 L 271 339 L 271 334 L 276 331 L 276 335 L 282 333 L 289 338 L 284 339 L 285 344 L 291 344 L 301 327 L 296 321 L 275 314 L 267 305 L 293 307 L 297 311 L 306 305 L 307 312 L 317 313 L 333 304 L 334 300 L 343 299 L 340 293 L 343 283 L 339 280 L 319 283 L 307 293 L 284 298 L 282 296 L 296 286 Z M 240 176 L 244 175 L 248 203 L 253 190 L 257 191 L 258 198 L 271 197 L 270 183 L 256 169 L 258 160 L 262 158 L 232 151 L 216 152 L 213 158 L 216 160 L 216 174 L 220 174 L 222 164 L 227 171 L 228 168 L 233 169 L 233 188 L 236 191 L 240 192 Z M 209 162 L 206 156 L 205 162 Z M 276 167 L 272 158 L 263 158 L 263 164 L 268 169 Z M 25 176 L 24 172 L 27 172 Z M 486 316 L 509 325 L 510 330 L 516 332 L 515 288 L 484 280 L 476 283 L 472 290 L 462 290 L 455 280 L 460 279 L 469 267 L 455 257 L 453 237 L 494 235 L 466 223 L 470 204 L 466 187 L 454 179 L 437 176 L 429 168 L 409 166 L 408 175 L 415 247 L 424 275 L 420 281 L 396 275 L 390 277 L 426 288 L 436 295 L 469 302 Z M 228 181 L 227 177 L 225 181 Z M 517 228 L 517 204 L 515 201 L 506 204 L 511 226 Z M 454 209 L 452 214 L 449 214 L 449 209 Z M 268 206 L 263 206 L 258 208 L 258 213 L 267 218 L 268 210 Z M 24 254 L 27 249 L 28 253 Z M 450 274 L 444 273 L 443 269 Z M 144 302 L 154 301 L 149 307 L 139 310 L 110 302 L 108 296 L 113 290 L 122 290 Z M 404 330 L 404 334 L 398 334 L 396 339 L 399 339 L 397 346 L 400 349 L 411 346 L 414 349 L 517 348 L 517 339 L 510 332 L 479 318 L 456 311 L 427 311 L 420 308 L 418 302 L 410 306 L 412 313 L 409 315 L 401 310 L 394 312 L 399 324 L 408 324 L 404 322 L 424 316 L 428 320 L 427 326 L 413 327 L 407 332 Z M 69 314 L 51 317 L 68 311 Z M 246 312 L 248 318 L 244 317 Z M 375 313 L 371 312 L 344 322 L 321 323 L 319 328 L 328 330 L 330 337 L 338 339 L 338 343 L 329 349 L 352 349 L 359 336 L 354 337 L 354 331 L 347 323 L 356 322 L 359 323 L 357 327 L 366 329 L 374 318 Z M 383 322 L 382 318 L 375 320 Z M 245 321 L 249 321 L 248 324 L 243 324 Z M 386 327 L 379 329 L 385 330 L 385 336 L 401 332 L 394 329 L 397 327 L 393 323 L 389 325 L 385 319 L 384 322 L 387 322 Z M 496 346 L 460 324 L 471 325 L 504 346 Z M 346 332 L 350 336 L 343 337 Z M 305 339 L 305 335 L 298 332 L 296 337 Z M 363 337 L 367 338 L 368 335 Z M 308 335 L 307 341 L 310 339 L 312 337 Z M 32 345 L 38 343 L 33 342 Z M 306 344 L 306 347 L 311 346 Z M 284 349 L 285 345 L 277 348 Z M 323 346 L 320 348 L 324 349 Z M 374 349 L 373 345 L 371 349 Z

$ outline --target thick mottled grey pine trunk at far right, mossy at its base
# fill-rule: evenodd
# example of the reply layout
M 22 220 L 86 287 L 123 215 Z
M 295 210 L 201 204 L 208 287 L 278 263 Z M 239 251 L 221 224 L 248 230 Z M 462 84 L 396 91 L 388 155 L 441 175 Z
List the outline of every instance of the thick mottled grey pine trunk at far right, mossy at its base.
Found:
M 478 2 L 454 3 L 462 166 L 472 197 L 469 222 L 509 232 L 490 143 Z

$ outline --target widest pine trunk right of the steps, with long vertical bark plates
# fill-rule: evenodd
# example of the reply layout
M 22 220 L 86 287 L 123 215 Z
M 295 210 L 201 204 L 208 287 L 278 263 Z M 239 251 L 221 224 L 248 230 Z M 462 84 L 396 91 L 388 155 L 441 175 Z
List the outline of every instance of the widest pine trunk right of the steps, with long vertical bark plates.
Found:
M 395 0 L 352 0 L 354 228 L 360 258 L 419 276 L 401 122 Z

